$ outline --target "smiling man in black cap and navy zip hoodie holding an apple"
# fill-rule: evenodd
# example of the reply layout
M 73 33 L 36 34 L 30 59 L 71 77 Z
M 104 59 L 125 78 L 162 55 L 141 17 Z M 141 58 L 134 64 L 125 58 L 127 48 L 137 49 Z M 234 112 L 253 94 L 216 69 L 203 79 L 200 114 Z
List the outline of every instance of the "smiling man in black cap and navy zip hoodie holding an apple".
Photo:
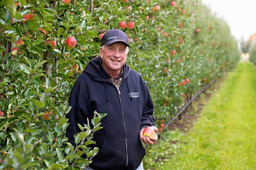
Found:
M 67 118 L 66 136 L 75 146 L 73 135 L 80 132 L 77 124 L 86 124 L 93 111 L 107 113 L 101 119 L 101 130 L 93 135 L 98 154 L 88 170 L 143 170 L 145 144 L 156 137 L 142 136 L 147 126 L 154 126 L 154 105 L 144 80 L 125 64 L 128 37 L 118 29 L 109 30 L 101 40 L 100 57 L 91 60 L 73 85 Z M 141 140 L 141 141 L 140 141 Z

